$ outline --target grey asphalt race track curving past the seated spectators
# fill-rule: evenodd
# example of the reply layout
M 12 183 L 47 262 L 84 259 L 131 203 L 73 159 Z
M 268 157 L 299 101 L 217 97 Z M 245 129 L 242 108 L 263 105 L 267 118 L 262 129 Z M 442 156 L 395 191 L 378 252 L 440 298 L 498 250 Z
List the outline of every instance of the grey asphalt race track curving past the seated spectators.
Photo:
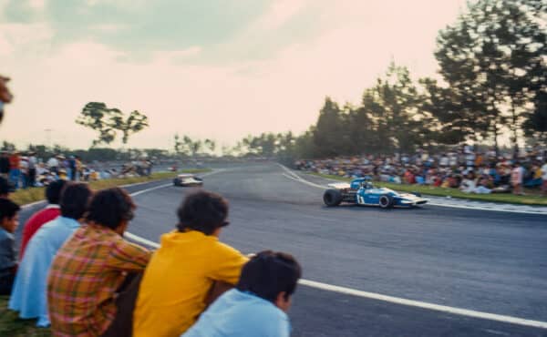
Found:
M 321 189 L 288 179 L 275 164 L 227 168 L 204 181 L 231 203 L 223 241 L 243 252 L 290 252 L 305 280 L 547 322 L 545 216 L 428 205 L 325 208 Z M 136 195 L 129 231 L 158 242 L 174 228 L 175 209 L 189 190 L 167 186 Z M 293 336 L 547 335 L 543 328 L 304 285 L 290 316 Z

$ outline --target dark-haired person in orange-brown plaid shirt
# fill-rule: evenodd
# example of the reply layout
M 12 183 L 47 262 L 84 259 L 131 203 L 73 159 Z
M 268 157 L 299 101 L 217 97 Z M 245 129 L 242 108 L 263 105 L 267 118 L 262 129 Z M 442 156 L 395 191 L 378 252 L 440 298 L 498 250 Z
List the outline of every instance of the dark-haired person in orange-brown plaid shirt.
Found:
M 150 250 L 122 238 L 134 209 L 123 189 L 99 191 L 89 204 L 87 225 L 58 250 L 47 281 L 54 336 L 130 336 L 116 331 L 119 317 L 127 314 L 119 310 L 120 288 L 150 260 Z

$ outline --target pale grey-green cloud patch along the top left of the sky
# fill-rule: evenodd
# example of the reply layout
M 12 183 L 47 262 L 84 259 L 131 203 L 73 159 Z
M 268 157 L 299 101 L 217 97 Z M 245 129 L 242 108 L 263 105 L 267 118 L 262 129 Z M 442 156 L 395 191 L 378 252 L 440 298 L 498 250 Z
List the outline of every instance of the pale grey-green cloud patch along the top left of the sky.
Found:
M 46 1 L 36 11 L 34 0 L 11 0 L 4 20 L 46 22 L 53 46 L 91 40 L 131 57 L 191 46 L 213 46 L 241 32 L 262 15 L 271 0 Z M 137 57 L 139 58 L 139 57 Z

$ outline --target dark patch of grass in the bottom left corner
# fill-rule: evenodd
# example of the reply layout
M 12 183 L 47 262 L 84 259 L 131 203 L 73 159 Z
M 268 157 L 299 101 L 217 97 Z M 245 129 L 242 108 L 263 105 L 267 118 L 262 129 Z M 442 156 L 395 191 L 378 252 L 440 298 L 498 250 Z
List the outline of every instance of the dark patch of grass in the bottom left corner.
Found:
M 7 310 L 9 297 L 0 296 L 0 336 L 50 337 L 49 329 L 36 328 L 36 320 L 21 320 L 15 311 Z

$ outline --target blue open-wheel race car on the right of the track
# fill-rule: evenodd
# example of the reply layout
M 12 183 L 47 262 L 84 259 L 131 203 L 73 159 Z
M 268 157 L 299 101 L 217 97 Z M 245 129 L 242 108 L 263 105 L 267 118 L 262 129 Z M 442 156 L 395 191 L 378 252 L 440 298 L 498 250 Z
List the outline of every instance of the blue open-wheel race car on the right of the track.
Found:
M 376 188 L 368 179 L 357 178 L 351 183 L 335 183 L 328 185 L 323 201 L 326 206 L 338 206 L 342 202 L 357 205 L 379 206 L 391 209 L 396 206 L 415 207 L 428 202 L 419 193 L 399 193 L 393 189 Z

